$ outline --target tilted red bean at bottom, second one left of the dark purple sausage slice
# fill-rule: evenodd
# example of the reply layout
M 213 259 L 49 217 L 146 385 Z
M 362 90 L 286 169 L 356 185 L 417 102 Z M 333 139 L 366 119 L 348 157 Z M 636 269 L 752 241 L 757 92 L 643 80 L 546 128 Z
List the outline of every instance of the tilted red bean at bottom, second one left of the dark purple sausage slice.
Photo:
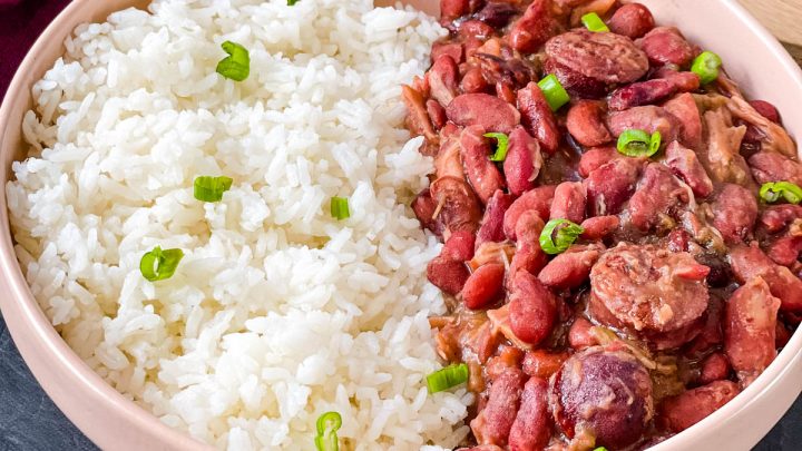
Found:
M 526 376 L 517 369 L 510 369 L 496 378 L 488 391 L 485 409 L 470 422 L 479 443 L 498 445 L 507 443 L 525 383 Z

